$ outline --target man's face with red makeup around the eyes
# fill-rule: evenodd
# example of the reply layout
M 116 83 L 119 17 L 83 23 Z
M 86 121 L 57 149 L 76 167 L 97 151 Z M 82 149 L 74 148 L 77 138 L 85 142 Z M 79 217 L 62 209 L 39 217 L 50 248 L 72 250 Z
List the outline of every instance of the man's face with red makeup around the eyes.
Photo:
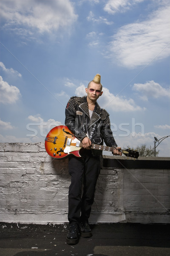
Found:
M 101 96 L 103 93 L 102 86 L 100 84 L 96 84 L 94 81 L 89 84 L 85 91 L 87 93 L 88 99 L 90 99 L 92 102 L 96 102 L 99 96 Z

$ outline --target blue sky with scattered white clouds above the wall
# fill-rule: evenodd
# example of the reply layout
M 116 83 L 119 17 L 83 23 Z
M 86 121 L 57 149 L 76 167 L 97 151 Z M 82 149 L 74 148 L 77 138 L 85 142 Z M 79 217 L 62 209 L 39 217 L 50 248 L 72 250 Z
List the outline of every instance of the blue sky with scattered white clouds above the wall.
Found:
M 43 142 L 96 73 L 119 146 L 170 135 L 169 14 L 170 0 L 1 0 L 0 142 Z M 170 157 L 170 137 L 157 149 Z

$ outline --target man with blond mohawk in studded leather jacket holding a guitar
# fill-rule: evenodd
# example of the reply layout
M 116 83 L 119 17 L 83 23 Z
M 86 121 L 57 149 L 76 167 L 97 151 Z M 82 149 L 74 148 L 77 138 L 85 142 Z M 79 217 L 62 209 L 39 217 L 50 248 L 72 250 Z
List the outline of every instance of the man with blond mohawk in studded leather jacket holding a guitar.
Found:
M 97 99 L 102 96 L 101 76 L 96 74 L 85 89 L 87 96 L 71 97 L 65 109 L 65 125 L 82 143 L 81 157 L 69 155 L 68 170 L 71 185 L 68 192 L 67 244 L 77 244 L 79 234 L 91 237 L 88 219 L 94 202 L 96 182 L 101 169 L 102 151 L 91 149 L 91 144 L 114 147 L 114 155 L 122 155 L 111 131 L 109 114 L 100 108 Z M 83 185 L 83 192 L 82 192 Z

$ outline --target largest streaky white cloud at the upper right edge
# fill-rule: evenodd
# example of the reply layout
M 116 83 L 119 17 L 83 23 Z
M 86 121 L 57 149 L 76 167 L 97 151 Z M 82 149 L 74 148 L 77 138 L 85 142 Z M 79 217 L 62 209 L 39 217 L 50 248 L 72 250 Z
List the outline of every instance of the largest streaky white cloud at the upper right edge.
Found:
M 122 66 L 134 68 L 170 55 L 170 6 L 150 15 L 148 20 L 122 26 L 109 49 Z

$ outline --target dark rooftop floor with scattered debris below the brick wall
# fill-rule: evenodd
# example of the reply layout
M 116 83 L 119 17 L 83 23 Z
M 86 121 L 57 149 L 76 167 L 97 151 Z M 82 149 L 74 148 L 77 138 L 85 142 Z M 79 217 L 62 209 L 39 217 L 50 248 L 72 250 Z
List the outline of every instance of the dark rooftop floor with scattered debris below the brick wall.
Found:
M 66 244 L 68 224 L 0 223 L 0 256 L 170 256 L 170 224 L 91 225 L 93 236 Z

